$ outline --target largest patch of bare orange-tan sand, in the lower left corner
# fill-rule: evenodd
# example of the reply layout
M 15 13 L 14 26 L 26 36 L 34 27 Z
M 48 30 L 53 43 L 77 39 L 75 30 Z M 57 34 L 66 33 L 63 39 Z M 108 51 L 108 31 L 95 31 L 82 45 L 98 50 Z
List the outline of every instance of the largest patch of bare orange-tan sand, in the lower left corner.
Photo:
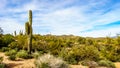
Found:
M 0 56 L 4 57 L 3 62 L 7 64 L 7 68 L 35 68 L 34 59 L 10 61 L 4 53 L 0 52 Z

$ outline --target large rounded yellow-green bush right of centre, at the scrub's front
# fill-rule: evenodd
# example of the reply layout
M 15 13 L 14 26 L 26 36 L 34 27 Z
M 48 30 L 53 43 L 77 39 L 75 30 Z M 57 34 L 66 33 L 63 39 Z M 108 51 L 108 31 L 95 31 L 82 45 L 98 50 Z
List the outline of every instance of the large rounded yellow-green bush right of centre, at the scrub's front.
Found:
M 76 48 L 75 48 L 76 49 Z M 75 55 L 78 56 L 78 60 L 93 60 L 97 61 L 99 60 L 99 51 L 94 46 L 80 46 L 77 48 L 77 50 L 74 50 Z

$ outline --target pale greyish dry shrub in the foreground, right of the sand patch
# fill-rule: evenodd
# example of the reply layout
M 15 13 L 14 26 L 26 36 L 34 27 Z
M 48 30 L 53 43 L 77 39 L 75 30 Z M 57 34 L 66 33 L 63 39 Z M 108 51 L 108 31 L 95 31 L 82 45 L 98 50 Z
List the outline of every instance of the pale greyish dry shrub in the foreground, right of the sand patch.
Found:
M 36 68 L 69 68 L 68 64 L 60 58 L 50 54 L 40 56 L 35 61 Z

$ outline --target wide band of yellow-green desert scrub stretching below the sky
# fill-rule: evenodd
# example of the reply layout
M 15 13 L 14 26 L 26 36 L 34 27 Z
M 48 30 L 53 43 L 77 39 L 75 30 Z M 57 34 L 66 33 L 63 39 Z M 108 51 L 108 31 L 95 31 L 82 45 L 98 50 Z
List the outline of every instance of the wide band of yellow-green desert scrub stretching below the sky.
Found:
M 0 51 L 5 52 L 6 55 L 15 55 L 15 58 L 29 57 L 27 54 L 28 41 L 26 35 L 13 36 L 7 34 L 2 35 L 0 40 L 2 43 Z M 85 38 L 73 35 L 34 34 L 32 38 L 32 53 L 50 53 L 56 57 L 63 58 L 69 64 L 79 64 L 84 60 L 100 62 L 100 64 L 102 64 L 101 60 L 118 62 L 120 61 L 119 40 L 119 36 L 116 38 Z

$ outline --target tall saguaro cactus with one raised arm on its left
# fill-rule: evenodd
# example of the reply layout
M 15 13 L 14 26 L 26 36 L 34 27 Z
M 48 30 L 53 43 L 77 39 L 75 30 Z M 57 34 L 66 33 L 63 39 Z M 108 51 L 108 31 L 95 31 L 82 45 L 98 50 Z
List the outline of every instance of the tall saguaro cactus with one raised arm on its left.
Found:
M 29 20 L 25 23 L 25 34 L 28 36 L 28 53 L 32 49 L 32 10 L 29 10 Z

